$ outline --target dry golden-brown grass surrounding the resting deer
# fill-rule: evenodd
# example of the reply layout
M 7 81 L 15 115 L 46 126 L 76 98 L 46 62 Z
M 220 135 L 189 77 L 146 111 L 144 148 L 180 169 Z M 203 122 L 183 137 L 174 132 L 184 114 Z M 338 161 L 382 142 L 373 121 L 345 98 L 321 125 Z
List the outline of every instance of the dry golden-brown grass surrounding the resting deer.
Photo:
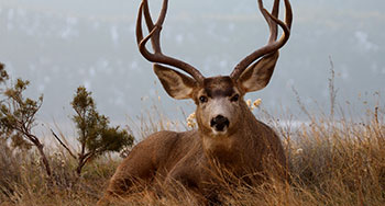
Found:
M 310 122 L 299 127 L 282 126 L 272 118 L 267 122 L 284 139 L 290 182 L 229 186 L 219 192 L 223 205 L 385 205 L 383 107 L 376 107 L 360 123 L 324 115 L 310 116 Z M 76 163 L 56 151 L 51 154 L 55 180 L 50 183 L 36 153 L 13 151 L 4 144 L 0 147 L 1 206 L 95 205 L 120 161 L 108 157 L 96 160 L 77 178 Z M 180 191 L 178 197 L 157 197 L 151 190 L 139 192 L 125 199 L 128 203 L 197 204 L 186 191 Z

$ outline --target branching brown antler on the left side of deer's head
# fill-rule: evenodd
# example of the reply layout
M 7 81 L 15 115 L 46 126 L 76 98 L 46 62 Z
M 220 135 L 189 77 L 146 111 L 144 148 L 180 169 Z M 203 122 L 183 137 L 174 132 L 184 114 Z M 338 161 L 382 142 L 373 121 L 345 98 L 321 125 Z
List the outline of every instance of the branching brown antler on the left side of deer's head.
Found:
M 138 21 L 136 21 L 136 42 L 138 42 L 139 50 L 143 55 L 143 57 L 146 58 L 148 61 L 155 62 L 155 64 L 164 64 L 164 65 L 179 68 L 185 72 L 189 73 L 195 80 L 197 80 L 198 83 L 202 83 L 205 78 L 196 68 L 188 65 L 187 62 L 175 59 L 173 57 L 168 57 L 162 53 L 161 31 L 162 31 L 163 22 L 166 18 L 167 4 L 168 4 L 168 0 L 164 0 L 161 14 L 154 24 L 150 14 L 147 0 L 142 1 L 141 7 L 139 9 Z M 143 37 L 143 30 L 142 30 L 143 13 L 144 13 L 145 23 L 148 28 L 148 35 L 146 37 Z M 150 53 L 145 47 L 148 39 L 151 39 L 154 53 Z

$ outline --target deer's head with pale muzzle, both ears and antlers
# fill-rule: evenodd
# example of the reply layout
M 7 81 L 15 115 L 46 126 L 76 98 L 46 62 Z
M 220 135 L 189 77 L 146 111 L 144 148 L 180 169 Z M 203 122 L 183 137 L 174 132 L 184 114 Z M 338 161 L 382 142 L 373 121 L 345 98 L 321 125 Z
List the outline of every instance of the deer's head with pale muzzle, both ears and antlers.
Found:
M 136 22 L 136 39 L 141 54 L 148 61 L 154 62 L 154 71 L 162 82 L 168 95 L 174 99 L 191 99 L 197 105 L 196 115 L 199 131 L 205 136 L 231 136 L 237 133 L 239 123 L 248 106 L 243 96 L 248 92 L 258 91 L 265 88 L 273 75 L 278 59 L 278 49 L 289 38 L 292 26 L 292 8 L 288 0 L 285 1 L 285 22 L 278 20 L 279 0 L 274 1 L 272 13 L 258 0 L 258 9 L 270 26 L 268 43 L 242 59 L 230 76 L 205 78 L 199 70 L 187 62 L 168 57 L 161 49 L 161 31 L 165 21 L 168 0 L 163 1 L 163 7 L 157 21 L 154 23 L 148 2 L 142 1 Z M 148 35 L 143 36 L 142 16 L 148 28 Z M 277 25 L 283 34 L 277 39 Z M 145 47 L 151 41 L 153 53 Z M 182 73 L 175 69 L 186 72 Z

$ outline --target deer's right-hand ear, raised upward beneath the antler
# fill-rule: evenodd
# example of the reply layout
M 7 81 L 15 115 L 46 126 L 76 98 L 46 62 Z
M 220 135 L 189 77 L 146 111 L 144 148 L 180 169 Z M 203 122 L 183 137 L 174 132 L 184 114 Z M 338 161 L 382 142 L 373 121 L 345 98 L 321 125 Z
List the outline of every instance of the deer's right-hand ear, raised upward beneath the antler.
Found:
M 278 52 L 275 52 L 250 66 L 238 80 L 241 88 L 245 92 L 254 92 L 265 88 L 272 78 L 278 56 Z

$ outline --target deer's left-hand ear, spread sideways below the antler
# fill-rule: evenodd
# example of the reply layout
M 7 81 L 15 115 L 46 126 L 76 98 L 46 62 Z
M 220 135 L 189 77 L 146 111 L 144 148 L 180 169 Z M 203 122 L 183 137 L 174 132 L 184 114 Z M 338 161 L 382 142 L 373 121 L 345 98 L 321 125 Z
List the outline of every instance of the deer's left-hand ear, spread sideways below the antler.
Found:
M 168 95 L 177 100 L 190 99 L 196 81 L 174 69 L 154 65 L 154 71 Z

